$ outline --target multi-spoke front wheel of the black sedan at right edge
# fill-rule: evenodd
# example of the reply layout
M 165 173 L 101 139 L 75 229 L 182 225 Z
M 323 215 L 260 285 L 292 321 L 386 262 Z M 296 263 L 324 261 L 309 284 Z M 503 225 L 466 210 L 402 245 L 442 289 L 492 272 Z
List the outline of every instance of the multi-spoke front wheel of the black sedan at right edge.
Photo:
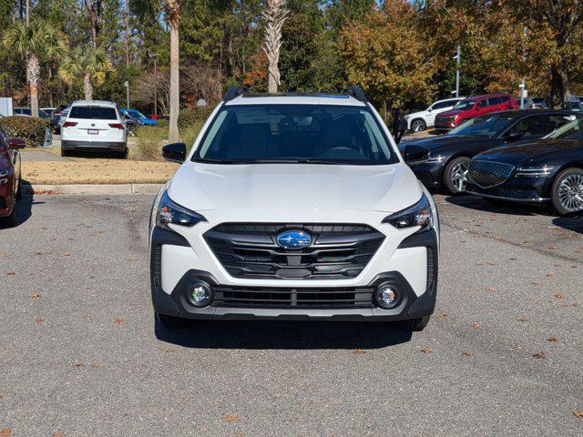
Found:
M 561 216 L 583 211 L 583 169 L 561 171 L 553 181 L 550 197 Z

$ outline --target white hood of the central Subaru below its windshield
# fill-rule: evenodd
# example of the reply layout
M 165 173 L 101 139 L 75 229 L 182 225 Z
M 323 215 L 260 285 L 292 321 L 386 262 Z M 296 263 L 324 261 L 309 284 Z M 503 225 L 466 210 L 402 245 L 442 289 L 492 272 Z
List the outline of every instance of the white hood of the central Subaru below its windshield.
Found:
M 413 205 L 422 188 L 404 164 L 220 165 L 187 162 L 169 197 L 194 211 L 236 209 L 395 212 Z

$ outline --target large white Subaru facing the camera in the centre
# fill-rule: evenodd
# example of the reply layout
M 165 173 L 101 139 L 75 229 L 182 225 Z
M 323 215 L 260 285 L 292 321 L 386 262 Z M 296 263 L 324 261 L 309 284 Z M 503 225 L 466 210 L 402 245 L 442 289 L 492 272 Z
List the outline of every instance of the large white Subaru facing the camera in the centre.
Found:
M 439 224 L 356 86 L 337 95 L 232 87 L 159 192 L 150 218 L 154 310 L 189 319 L 395 321 L 435 308 Z

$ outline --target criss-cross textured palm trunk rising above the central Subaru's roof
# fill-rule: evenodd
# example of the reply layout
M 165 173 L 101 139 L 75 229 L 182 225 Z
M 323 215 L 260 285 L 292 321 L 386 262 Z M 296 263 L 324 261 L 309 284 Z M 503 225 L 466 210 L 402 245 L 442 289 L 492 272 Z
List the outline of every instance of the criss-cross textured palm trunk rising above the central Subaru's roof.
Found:
M 280 85 L 280 49 L 281 49 L 281 27 L 285 22 L 288 10 L 285 8 L 284 0 L 265 0 L 261 15 L 265 20 L 265 40 L 263 51 L 267 55 L 268 62 L 268 91 L 277 93 Z

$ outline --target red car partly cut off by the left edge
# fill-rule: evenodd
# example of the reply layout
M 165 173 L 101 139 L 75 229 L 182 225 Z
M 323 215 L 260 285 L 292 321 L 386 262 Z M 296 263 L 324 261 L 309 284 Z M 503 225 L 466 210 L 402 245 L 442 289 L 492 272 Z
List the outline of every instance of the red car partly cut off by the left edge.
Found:
M 0 130 L 0 227 L 16 226 L 16 198 L 20 198 L 20 154 L 22 139 L 10 138 Z

